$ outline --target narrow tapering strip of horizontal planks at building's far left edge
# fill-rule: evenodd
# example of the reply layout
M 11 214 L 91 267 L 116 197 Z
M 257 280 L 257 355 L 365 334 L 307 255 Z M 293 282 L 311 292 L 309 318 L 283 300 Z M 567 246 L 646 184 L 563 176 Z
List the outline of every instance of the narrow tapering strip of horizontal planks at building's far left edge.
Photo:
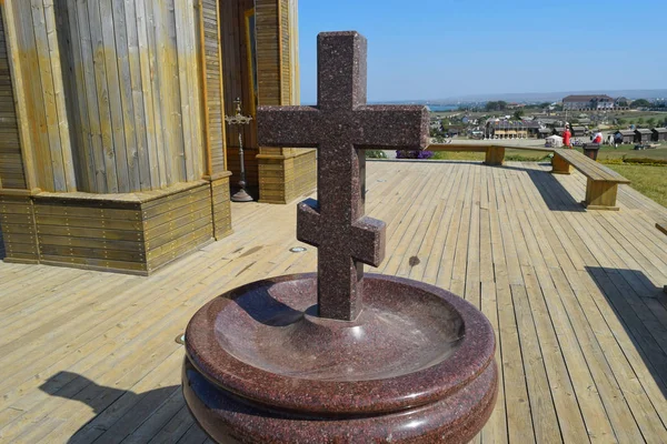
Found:
M 3 16 L 4 11 L 0 9 L 0 188 L 26 189 L 19 120 L 14 108 Z

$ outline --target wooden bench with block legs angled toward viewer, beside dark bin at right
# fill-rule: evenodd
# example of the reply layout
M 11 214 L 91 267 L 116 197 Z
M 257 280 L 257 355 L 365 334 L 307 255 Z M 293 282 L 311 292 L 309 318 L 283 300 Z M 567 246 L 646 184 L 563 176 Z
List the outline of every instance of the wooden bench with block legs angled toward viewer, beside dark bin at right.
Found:
M 588 179 L 586 200 L 581 203 L 589 210 L 618 211 L 618 206 L 616 206 L 618 184 L 630 183 L 616 171 L 587 158 L 577 150 L 554 149 L 551 165 L 554 174 L 570 174 L 575 168 Z

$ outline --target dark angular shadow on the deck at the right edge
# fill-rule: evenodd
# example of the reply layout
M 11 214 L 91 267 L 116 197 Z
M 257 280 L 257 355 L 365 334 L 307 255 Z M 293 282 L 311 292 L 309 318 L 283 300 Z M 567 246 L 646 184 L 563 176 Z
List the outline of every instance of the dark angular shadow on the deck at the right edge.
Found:
M 586 266 L 667 396 L 667 295 L 641 271 Z

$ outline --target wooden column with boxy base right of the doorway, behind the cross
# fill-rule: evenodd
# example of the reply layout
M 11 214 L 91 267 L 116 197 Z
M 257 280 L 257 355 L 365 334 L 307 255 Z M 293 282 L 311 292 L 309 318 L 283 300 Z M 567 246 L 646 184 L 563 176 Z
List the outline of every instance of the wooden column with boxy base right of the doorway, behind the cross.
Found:
M 257 0 L 259 104 L 299 104 L 297 0 Z M 316 186 L 316 152 L 259 148 L 260 202 L 288 203 Z

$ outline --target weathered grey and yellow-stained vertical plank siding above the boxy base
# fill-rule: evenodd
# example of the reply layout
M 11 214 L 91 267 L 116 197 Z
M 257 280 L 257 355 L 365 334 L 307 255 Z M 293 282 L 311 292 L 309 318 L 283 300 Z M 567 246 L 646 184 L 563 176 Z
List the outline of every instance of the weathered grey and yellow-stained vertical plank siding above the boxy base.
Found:
M 7 3 L 37 186 L 126 193 L 201 178 L 198 0 Z

